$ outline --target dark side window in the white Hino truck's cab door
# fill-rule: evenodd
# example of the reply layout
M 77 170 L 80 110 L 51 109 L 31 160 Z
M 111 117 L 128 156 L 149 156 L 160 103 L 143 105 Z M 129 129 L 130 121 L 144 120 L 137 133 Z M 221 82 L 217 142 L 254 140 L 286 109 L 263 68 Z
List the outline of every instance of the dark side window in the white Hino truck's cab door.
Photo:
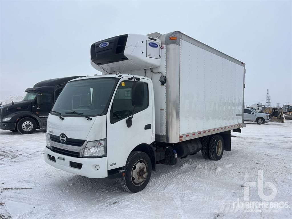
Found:
M 133 113 L 132 106 L 132 86 L 134 81 L 122 81 L 117 89 L 112 103 L 110 112 L 110 122 L 114 124 L 117 121 L 130 117 Z M 148 85 L 144 85 L 144 102 L 143 106 L 135 108 L 135 114 L 141 112 L 148 107 Z

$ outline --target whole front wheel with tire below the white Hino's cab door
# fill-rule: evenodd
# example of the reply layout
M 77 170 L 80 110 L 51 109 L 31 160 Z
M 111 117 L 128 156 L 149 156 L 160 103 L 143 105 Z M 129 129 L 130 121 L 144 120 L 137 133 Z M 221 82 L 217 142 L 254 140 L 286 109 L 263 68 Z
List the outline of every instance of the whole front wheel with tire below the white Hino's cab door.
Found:
M 143 190 L 150 180 L 151 170 L 151 160 L 146 153 L 131 152 L 125 166 L 126 175 L 120 178 L 123 189 L 132 193 Z

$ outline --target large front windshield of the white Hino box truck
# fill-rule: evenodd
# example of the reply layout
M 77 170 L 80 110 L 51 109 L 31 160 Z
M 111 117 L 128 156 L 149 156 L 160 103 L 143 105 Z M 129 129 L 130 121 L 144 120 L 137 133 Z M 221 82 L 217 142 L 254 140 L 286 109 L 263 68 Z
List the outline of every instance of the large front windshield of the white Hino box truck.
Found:
M 85 116 L 100 115 L 108 107 L 115 84 L 116 79 L 114 78 L 84 79 L 69 82 L 58 96 L 52 111 L 74 117 L 80 115 L 68 113 L 75 111 Z

